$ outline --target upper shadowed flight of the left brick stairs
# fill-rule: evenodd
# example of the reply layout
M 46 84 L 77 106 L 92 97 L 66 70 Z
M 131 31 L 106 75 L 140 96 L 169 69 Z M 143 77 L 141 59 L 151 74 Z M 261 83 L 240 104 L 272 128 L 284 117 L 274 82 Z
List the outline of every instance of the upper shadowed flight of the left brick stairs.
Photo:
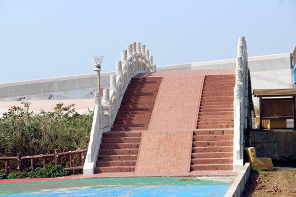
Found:
M 132 78 L 111 131 L 147 130 L 161 77 Z

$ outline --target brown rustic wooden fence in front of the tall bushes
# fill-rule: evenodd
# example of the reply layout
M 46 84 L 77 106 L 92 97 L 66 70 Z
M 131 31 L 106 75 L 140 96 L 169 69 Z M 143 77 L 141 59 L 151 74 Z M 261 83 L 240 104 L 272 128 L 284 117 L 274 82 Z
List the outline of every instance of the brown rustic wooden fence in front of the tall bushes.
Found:
M 67 170 L 79 170 L 83 169 L 84 161 L 85 161 L 85 156 L 84 153 L 87 152 L 87 149 L 81 149 L 81 150 L 76 150 L 76 151 L 68 151 L 64 153 L 60 153 L 59 149 L 54 150 L 54 154 L 48 154 L 48 155 L 34 155 L 34 156 L 23 156 L 22 153 L 18 153 L 16 157 L 0 157 L 0 161 L 5 161 L 5 174 L 8 174 L 9 170 L 9 160 L 12 161 L 17 161 L 17 170 L 19 172 L 22 171 L 23 169 L 23 161 L 26 160 L 31 160 L 31 167 L 32 170 L 36 169 L 36 160 L 37 159 L 43 159 L 43 168 L 45 169 L 45 165 L 47 164 L 47 159 L 48 158 L 54 158 L 55 164 L 60 164 L 60 158 L 63 156 L 70 156 L 70 167 L 67 167 Z M 76 154 L 81 155 L 81 164 L 80 166 L 75 166 L 73 163 L 73 156 Z

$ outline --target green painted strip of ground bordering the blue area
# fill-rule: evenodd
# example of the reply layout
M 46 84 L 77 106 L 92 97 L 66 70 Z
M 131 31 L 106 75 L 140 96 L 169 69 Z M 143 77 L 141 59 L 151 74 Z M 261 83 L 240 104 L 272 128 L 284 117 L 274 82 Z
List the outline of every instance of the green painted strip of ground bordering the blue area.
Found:
M 0 195 L 123 187 L 231 185 L 194 177 L 121 177 L 0 185 Z

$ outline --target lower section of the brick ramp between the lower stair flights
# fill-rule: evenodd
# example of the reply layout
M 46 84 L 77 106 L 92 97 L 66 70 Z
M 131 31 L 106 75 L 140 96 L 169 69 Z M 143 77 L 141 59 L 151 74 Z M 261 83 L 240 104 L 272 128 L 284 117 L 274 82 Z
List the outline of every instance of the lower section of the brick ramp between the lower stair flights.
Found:
M 192 131 L 143 132 L 136 176 L 189 173 Z

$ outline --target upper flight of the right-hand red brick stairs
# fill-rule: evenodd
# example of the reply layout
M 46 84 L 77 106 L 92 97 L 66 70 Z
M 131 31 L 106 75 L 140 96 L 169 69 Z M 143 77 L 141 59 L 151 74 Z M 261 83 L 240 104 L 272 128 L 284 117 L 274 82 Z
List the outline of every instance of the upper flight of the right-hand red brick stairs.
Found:
M 205 76 L 197 129 L 233 128 L 235 75 Z

